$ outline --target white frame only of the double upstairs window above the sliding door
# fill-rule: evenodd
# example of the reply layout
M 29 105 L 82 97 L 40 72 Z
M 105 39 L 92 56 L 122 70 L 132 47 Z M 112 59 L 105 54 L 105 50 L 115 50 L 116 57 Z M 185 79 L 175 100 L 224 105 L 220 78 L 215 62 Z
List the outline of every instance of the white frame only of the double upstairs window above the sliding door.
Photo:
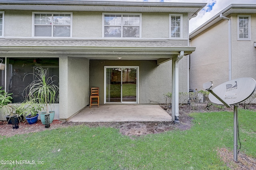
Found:
M 121 16 L 121 22 L 123 22 L 123 15 L 139 15 L 140 16 L 140 37 L 122 37 L 123 36 L 123 25 L 121 26 L 121 37 L 105 37 L 105 15 L 122 15 Z M 102 38 L 106 39 L 138 39 L 142 38 L 142 14 L 141 13 L 102 13 Z

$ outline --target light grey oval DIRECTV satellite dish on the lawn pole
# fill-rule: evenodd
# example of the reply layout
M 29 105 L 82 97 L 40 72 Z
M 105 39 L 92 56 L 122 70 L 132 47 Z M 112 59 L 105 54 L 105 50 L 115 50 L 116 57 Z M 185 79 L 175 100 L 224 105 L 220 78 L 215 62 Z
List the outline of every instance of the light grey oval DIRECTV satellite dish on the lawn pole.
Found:
M 228 105 L 236 105 L 250 97 L 256 89 L 256 81 L 250 77 L 233 79 L 222 83 L 212 89 Z M 209 94 L 209 99 L 217 105 L 224 105 L 212 93 Z

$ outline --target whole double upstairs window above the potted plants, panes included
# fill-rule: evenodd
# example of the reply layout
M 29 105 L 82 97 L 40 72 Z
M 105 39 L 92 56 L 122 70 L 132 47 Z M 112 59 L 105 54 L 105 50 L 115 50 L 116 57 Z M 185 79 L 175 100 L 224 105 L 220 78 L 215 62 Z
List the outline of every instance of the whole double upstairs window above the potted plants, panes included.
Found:
M 33 13 L 34 37 L 71 37 L 72 13 Z

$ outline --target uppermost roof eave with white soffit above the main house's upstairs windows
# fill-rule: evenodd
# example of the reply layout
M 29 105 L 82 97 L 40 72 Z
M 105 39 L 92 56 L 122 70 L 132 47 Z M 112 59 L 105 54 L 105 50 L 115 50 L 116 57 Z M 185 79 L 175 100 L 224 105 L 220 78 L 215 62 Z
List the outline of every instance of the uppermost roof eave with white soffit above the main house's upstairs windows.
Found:
M 194 16 L 206 3 L 118 2 L 80 0 L 0 0 L 0 10 L 174 12 Z

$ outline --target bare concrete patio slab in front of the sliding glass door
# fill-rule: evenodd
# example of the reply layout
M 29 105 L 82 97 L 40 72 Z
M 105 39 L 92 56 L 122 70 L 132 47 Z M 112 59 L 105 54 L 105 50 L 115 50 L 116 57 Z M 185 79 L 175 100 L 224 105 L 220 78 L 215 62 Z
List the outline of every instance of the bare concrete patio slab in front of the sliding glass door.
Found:
M 100 105 L 87 106 L 70 122 L 150 122 L 172 121 L 159 105 Z

